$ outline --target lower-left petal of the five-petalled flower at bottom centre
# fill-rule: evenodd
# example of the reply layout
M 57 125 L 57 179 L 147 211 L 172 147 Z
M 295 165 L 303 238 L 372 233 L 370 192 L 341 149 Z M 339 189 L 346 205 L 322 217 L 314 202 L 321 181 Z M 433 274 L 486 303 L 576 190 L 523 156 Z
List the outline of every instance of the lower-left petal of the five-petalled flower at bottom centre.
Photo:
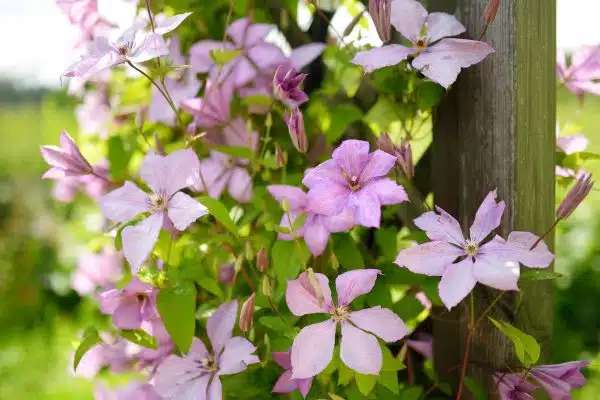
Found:
M 292 378 L 310 378 L 322 372 L 331 362 L 335 345 L 332 319 L 308 325 L 294 338 L 292 344 Z

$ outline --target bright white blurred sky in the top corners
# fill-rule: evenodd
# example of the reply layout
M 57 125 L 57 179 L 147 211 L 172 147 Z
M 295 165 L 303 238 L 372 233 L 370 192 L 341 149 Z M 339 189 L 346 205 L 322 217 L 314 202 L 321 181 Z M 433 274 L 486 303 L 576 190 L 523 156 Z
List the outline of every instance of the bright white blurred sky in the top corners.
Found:
M 600 44 L 600 0 L 557 0 L 558 46 Z M 99 0 L 103 14 L 120 24 L 131 21 L 122 0 Z M 77 31 L 55 0 L 0 0 L 0 76 L 31 85 L 58 86 L 74 59 Z M 341 30 L 346 23 L 341 25 Z

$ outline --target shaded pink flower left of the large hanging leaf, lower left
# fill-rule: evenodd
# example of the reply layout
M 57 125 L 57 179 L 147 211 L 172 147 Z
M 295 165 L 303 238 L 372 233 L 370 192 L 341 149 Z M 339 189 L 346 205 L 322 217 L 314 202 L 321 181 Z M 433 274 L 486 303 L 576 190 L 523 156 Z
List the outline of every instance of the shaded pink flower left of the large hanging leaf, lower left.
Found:
M 123 289 L 109 289 L 96 299 L 100 311 L 112 315 L 113 324 L 120 329 L 138 329 L 142 321 L 158 318 L 156 311 L 157 289 L 136 277 Z

